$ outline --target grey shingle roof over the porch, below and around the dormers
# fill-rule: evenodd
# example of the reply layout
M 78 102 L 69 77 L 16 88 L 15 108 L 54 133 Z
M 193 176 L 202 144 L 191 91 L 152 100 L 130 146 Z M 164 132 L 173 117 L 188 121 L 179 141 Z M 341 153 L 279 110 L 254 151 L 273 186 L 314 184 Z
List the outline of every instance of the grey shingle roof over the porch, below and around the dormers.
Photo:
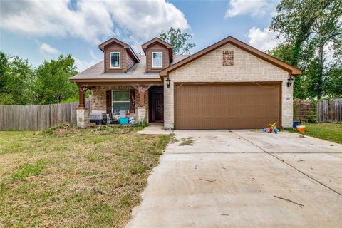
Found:
M 187 58 L 189 55 L 175 55 L 170 65 Z M 159 72 L 145 72 L 146 68 L 146 56 L 138 56 L 140 63 L 135 63 L 126 73 L 103 73 L 103 61 L 96 63 L 94 66 L 76 74 L 71 77 L 71 81 L 77 81 L 78 79 L 157 79 L 160 80 Z

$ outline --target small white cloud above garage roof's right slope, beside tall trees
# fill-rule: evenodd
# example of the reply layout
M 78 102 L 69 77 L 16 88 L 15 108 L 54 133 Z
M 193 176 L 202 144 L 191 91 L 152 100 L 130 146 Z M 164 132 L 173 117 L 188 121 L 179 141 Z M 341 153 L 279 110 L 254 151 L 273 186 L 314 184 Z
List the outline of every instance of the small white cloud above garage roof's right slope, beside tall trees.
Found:
M 284 41 L 283 38 L 276 38 L 277 35 L 278 33 L 269 30 L 269 28 L 261 30 L 260 28 L 253 27 L 249 29 L 246 36 L 249 45 L 261 51 L 266 51 L 275 48 L 281 41 Z

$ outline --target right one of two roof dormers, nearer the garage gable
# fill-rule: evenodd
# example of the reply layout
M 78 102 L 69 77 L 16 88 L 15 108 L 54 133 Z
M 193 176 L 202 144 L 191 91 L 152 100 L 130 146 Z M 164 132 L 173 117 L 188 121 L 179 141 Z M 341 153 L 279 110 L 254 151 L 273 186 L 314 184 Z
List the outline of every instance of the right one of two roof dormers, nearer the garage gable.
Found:
M 160 38 L 142 44 L 142 51 L 146 56 L 146 72 L 161 71 L 173 61 L 172 46 Z

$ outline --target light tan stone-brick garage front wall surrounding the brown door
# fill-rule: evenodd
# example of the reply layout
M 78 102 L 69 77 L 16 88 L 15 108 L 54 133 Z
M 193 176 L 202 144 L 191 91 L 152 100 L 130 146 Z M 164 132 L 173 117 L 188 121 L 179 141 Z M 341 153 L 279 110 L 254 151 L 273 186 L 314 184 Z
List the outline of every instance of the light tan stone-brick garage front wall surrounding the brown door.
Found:
M 234 51 L 233 66 L 222 66 L 222 52 Z M 174 128 L 174 83 L 176 82 L 253 82 L 281 81 L 282 125 L 292 125 L 293 86 L 286 86 L 287 71 L 263 61 L 228 43 L 170 73 L 170 88 L 164 81 L 164 126 Z M 166 80 L 166 78 L 165 78 Z M 288 97 L 289 100 L 286 100 Z

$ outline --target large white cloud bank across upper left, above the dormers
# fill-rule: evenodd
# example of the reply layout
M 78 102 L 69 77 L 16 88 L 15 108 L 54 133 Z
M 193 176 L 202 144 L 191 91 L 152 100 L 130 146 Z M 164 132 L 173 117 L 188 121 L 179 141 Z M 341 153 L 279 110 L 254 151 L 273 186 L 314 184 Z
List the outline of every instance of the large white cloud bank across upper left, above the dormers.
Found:
M 1 1 L 0 21 L 9 31 L 95 43 L 125 33 L 145 40 L 170 26 L 190 28 L 182 11 L 165 0 L 79 0 L 72 8 L 70 0 Z

